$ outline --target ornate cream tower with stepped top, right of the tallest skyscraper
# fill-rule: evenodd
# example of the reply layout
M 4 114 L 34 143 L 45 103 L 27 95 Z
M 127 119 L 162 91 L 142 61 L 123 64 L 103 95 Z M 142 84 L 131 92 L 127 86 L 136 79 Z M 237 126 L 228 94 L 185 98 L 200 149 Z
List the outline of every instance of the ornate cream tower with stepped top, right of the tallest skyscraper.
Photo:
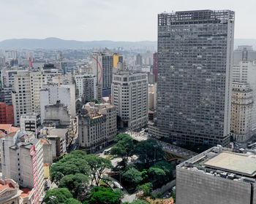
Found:
M 230 135 L 238 142 L 252 138 L 252 89 L 243 82 L 233 82 Z

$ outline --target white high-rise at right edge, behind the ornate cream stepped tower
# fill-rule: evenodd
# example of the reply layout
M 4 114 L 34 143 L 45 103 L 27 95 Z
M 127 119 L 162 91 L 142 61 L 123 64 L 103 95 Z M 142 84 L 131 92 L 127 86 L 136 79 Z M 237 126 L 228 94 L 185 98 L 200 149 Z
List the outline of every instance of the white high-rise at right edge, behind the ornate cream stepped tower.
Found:
M 252 88 L 252 130 L 256 131 L 256 64 L 249 60 L 241 61 L 233 66 L 233 82 L 248 83 Z

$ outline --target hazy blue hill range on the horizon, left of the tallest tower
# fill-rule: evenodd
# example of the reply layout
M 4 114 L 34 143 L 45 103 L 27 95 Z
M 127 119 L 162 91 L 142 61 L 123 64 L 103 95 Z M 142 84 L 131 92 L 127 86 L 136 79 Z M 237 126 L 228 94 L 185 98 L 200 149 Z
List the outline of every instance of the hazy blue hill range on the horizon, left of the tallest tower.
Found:
M 76 40 L 64 40 L 58 38 L 46 39 L 7 39 L 0 42 L 0 48 L 4 49 L 79 49 L 79 48 L 113 48 L 113 47 L 154 47 L 157 50 L 157 42 L 113 42 L 113 41 L 91 41 L 83 42 Z

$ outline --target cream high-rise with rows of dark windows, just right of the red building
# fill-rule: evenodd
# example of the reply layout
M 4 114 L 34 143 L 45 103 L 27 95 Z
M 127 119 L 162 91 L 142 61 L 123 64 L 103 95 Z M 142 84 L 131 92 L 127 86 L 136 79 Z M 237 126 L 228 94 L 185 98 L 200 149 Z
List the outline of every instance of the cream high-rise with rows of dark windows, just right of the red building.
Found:
M 12 105 L 15 125 L 20 125 L 21 114 L 40 113 L 40 90 L 47 84 L 42 71 L 19 71 L 14 76 Z

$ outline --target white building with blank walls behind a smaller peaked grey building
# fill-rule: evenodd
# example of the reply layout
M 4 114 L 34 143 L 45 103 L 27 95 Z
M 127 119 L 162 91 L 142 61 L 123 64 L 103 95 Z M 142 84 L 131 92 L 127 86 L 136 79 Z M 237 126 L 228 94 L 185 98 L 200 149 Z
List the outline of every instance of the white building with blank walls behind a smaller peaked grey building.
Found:
M 45 106 L 64 103 L 71 117 L 75 117 L 75 85 L 45 85 L 40 90 L 41 122 L 45 119 Z

